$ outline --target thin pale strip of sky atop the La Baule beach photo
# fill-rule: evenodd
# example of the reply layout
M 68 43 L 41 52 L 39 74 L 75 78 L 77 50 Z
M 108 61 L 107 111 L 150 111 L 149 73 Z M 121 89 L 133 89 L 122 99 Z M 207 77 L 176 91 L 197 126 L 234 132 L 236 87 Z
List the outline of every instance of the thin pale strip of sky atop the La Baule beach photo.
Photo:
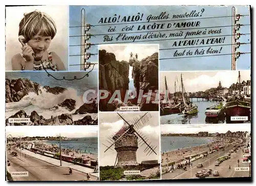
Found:
M 251 124 L 201 124 L 201 125 L 161 125 L 161 134 L 197 134 L 200 131 L 208 131 L 209 133 L 225 133 L 228 130 L 251 131 Z

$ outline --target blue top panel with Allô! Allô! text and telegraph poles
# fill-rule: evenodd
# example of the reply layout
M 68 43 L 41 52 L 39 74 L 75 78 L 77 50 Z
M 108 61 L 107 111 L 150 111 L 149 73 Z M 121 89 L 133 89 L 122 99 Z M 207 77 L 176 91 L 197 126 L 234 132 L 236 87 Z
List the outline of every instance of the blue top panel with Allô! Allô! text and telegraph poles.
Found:
M 80 69 L 79 55 L 95 63 L 98 46 L 109 44 L 159 44 L 160 71 L 251 68 L 250 6 L 81 5 L 69 12 L 72 70 Z

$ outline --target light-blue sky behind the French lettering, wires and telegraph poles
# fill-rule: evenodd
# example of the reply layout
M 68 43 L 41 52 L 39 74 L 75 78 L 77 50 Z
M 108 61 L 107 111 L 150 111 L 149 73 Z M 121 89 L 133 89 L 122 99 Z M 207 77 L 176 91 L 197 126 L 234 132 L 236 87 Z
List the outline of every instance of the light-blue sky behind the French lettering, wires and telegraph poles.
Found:
M 241 15 L 249 15 L 249 7 L 247 6 L 234 6 L 236 8 L 236 14 Z M 111 19 L 116 14 L 117 17 L 120 15 L 123 16 L 129 16 L 129 15 L 137 15 L 140 13 L 143 17 L 141 18 L 141 21 L 138 22 L 146 22 L 146 18 L 149 15 L 152 16 L 159 16 L 161 12 L 166 12 L 166 14 L 169 14 L 169 18 L 165 22 L 157 22 L 156 23 L 173 23 L 174 19 L 172 16 L 174 14 L 184 14 L 184 13 L 190 13 L 193 10 L 196 10 L 197 12 L 202 12 L 202 9 L 204 9 L 202 16 L 200 18 L 205 19 L 196 19 L 196 21 L 200 21 L 200 25 L 197 27 L 200 31 L 204 31 L 205 28 L 208 27 L 214 27 L 219 26 L 218 28 L 208 28 L 207 31 L 210 31 L 211 29 L 217 29 L 219 30 L 221 28 L 220 34 L 210 34 L 207 36 L 223 36 L 225 37 L 223 44 L 230 44 L 231 43 L 231 35 L 232 34 L 232 26 L 230 26 L 231 23 L 231 9 L 232 6 L 70 6 L 70 26 L 80 26 L 80 12 L 81 9 L 84 8 L 86 12 L 86 23 L 90 23 L 92 25 L 95 25 L 88 31 L 88 33 L 91 33 L 93 35 L 96 35 L 94 37 L 91 37 L 91 39 L 88 41 L 90 43 L 94 43 L 96 45 L 91 46 L 91 48 L 87 52 L 91 52 L 92 54 L 97 54 L 98 46 L 100 44 L 108 44 L 108 43 L 120 43 L 121 41 L 106 41 L 103 42 L 103 37 L 105 35 L 111 36 L 117 36 L 119 33 L 125 33 L 127 36 L 135 36 L 138 35 L 138 33 L 129 34 L 129 32 L 150 32 L 150 31 L 157 31 L 155 33 L 158 33 L 159 29 L 155 30 L 139 30 L 138 31 L 138 25 L 149 25 L 152 23 L 134 23 L 130 24 L 130 22 L 126 22 L 127 24 L 119 24 L 119 25 L 110 25 L 111 23 L 103 23 L 103 25 L 99 25 L 100 18 L 106 17 L 107 19 L 111 17 Z M 226 17 L 223 17 L 226 16 Z M 219 17 L 219 18 L 208 18 L 208 17 Z M 176 20 L 180 20 L 176 19 Z M 184 18 L 183 18 L 184 19 Z M 153 22 L 154 20 L 152 20 Z M 188 21 L 194 21 L 194 20 L 186 20 Z M 176 21 L 183 22 L 183 21 Z M 240 24 L 250 24 L 250 16 L 244 16 L 241 17 L 239 22 Z M 121 32 L 122 28 L 125 26 L 132 26 L 135 25 L 135 29 L 133 31 L 127 31 L 127 32 Z M 116 26 L 115 32 L 108 32 L 108 29 L 112 26 Z M 222 26 L 222 27 L 220 27 Z M 201 28 L 201 29 L 200 29 Z M 179 29 L 179 28 L 178 28 Z M 198 29 L 190 29 L 186 30 L 183 29 L 184 33 L 188 31 L 197 31 Z M 162 29 L 166 30 L 166 29 Z M 169 30 L 176 30 L 176 31 L 169 31 Z M 170 32 L 177 32 L 177 28 L 170 28 L 166 32 L 162 33 L 170 33 Z M 180 31 L 178 31 L 180 32 Z M 243 34 L 250 34 L 250 25 L 242 26 L 239 30 L 240 33 Z M 70 36 L 77 36 L 80 35 L 80 28 L 71 28 L 69 30 Z M 99 35 L 100 34 L 100 35 Z M 116 34 L 116 35 L 110 35 L 110 34 Z M 141 33 L 140 33 L 141 34 Z M 194 38 L 194 37 L 202 37 L 202 36 L 189 36 L 187 38 Z M 176 39 L 177 38 L 177 39 Z M 164 40 L 162 38 L 162 41 L 153 41 L 153 39 L 144 39 L 143 42 L 135 42 L 136 44 L 159 44 L 160 49 L 166 49 L 170 48 L 168 50 L 160 50 L 159 52 L 159 59 L 164 58 L 173 58 L 174 52 L 177 50 L 176 46 L 173 46 L 174 41 L 183 41 L 184 37 L 176 37 L 176 38 L 170 38 L 172 40 Z M 212 38 L 212 37 L 211 37 Z M 250 35 L 242 35 L 241 38 L 238 40 L 241 43 L 248 43 L 250 42 Z M 159 38 L 157 38 L 159 40 Z M 207 38 L 206 38 L 207 39 Z M 76 45 L 80 44 L 80 37 L 70 37 L 70 45 Z M 123 41 L 122 41 L 123 42 Z M 127 41 L 126 41 L 127 42 Z M 133 42 L 129 42 L 133 43 Z M 126 44 L 126 43 L 125 43 Z M 222 43 L 221 43 L 222 44 Z M 219 44 L 217 44 L 219 45 Z M 205 45 L 200 45 L 205 46 Z M 186 46 L 180 46 L 180 47 L 188 47 Z M 179 48 L 180 48 L 179 47 Z M 250 52 L 250 44 L 241 45 L 240 48 L 237 51 L 241 52 Z M 207 49 L 208 47 L 202 47 L 201 49 Z M 212 46 L 212 49 L 220 49 L 220 46 Z M 196 50 L 196 48 L 187 48 L 188 50 L 193 50 L 193 52 Z M 179 49 L 179 51 L 183 51 L 183 49 Z M 70 55 L 79 55 L 80 54 L 80 46 L 70 46 L 69 48 Z M 222 46 L 221 54 L 231 54 L 231 45 L 225 45 Z M 205 54 L 209 55 L 209 54 Z M 250 63 L 251 63 L 251 55 L 241 55 L 241 57 L 237 60 L 237 69 L 240 70 L 247 70 L 250 69 Z M 98 58 L 97 55 L 92 56 L 90 58 L 91 62 L 97 62 Z M 70 57 L 70 64 L 77 64 L 80 63 L 80 56 L 76 57 Z M 230 55 L 224 55 L 224 56 L 211 56 L 211 57 L 197 57 L 197 58 L 184 58 L 184 59 L 167 59 L 167 60 L 160 60 L 159 62 L 159 69 L 160 71 L 183 71 L 183 70 L 230 70 L 231 69 L 231 56 Z M 70 70 L 79 70 L 79 66 L 72 66 L 70 67 Z

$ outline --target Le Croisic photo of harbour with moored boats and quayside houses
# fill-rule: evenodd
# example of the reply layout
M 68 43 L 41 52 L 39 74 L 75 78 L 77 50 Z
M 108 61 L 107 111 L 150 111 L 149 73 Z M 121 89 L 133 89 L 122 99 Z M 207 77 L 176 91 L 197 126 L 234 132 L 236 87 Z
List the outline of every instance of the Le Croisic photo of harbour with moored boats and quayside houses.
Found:
M 251 71 L 160 72 L 161 124 L 250 123 Z

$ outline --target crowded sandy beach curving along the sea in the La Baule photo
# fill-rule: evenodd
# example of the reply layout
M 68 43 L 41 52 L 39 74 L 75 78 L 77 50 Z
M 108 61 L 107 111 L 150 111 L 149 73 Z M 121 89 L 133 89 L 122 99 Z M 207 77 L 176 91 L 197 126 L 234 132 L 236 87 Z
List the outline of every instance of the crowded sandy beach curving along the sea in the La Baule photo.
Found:
M 214 139 L 213 142 L 200 145 L 196 147 L 188 147 L 182 148 L 178 150 L 168 151 L 168 152 L 161 152 L 161 160 L 162 164 L 167 164 L 176 161 L 177 163 L 187 156 L 199 154 L 205 151 L 212 151 L 216 146 L 225 146 L 232 142 L 231 139 L 226 138 L 212 138 Z

